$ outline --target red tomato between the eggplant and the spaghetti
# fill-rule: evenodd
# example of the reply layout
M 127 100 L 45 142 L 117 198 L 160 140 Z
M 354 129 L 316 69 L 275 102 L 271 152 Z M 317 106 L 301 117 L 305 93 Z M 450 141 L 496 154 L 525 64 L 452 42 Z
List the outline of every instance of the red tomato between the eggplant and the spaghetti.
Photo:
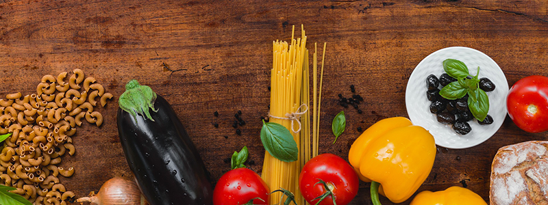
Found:
M 217 182 L 213 191 L 214 205 L 246 204 L 253 198 L 253 204 L 268 204 L 269 187 L 266 182 L 251 169 L 238 168 L 225 173 Z

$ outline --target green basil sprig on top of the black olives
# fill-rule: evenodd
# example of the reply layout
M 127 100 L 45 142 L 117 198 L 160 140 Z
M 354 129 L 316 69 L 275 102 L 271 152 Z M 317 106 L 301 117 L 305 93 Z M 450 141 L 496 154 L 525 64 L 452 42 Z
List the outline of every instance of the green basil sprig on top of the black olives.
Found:
M 484 90 L 479 88 L 479 67 L 477 67 L 477 74 L 471 77 L 468 67 L 462 61 L 445 59 L 443 61 L 443 70 L 457 81 L 445 85 L 440 90 L 440 96 L 449 100 L 456 100 L 468 94 L 470 112 L 477 120 L 485 120 L 489 112 L 489 98 Z

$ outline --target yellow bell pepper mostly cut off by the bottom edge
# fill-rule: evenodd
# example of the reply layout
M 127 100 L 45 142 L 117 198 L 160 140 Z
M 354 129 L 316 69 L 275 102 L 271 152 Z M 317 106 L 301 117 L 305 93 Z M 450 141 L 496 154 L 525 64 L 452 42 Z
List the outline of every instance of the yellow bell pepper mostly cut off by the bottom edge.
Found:
M 415 196 L 410 205 L 487 205 L 487 203 L 470 189 L 449 187 L 445 191 L 423 191 Z

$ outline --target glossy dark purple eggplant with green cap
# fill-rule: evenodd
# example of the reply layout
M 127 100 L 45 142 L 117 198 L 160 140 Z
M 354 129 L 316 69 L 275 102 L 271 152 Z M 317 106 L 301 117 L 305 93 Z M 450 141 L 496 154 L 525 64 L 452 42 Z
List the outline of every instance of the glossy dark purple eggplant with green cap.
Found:
M 206 166 L 175 111 L 132 80 L 119 98 L 117 125 L 130 169 L 151 205 L 212 204 Z

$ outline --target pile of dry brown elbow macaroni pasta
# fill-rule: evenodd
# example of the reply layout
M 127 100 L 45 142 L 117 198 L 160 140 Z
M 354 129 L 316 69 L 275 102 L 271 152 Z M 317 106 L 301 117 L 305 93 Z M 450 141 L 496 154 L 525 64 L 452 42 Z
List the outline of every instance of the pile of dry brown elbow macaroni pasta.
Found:
M 45 75 L 34 94 L 6 94 L 0 99 L 0 135 L 12 135 L 0 147 L 0 184 L 33 204 L 66 204 L 74 193 L 59 177 L 75 170 L 60 166 L 62 156 L 75 153 L 71 137 L 82 122 L 101 126 L 103 115 L 94 108 L 112 97 L 79 69 Z

